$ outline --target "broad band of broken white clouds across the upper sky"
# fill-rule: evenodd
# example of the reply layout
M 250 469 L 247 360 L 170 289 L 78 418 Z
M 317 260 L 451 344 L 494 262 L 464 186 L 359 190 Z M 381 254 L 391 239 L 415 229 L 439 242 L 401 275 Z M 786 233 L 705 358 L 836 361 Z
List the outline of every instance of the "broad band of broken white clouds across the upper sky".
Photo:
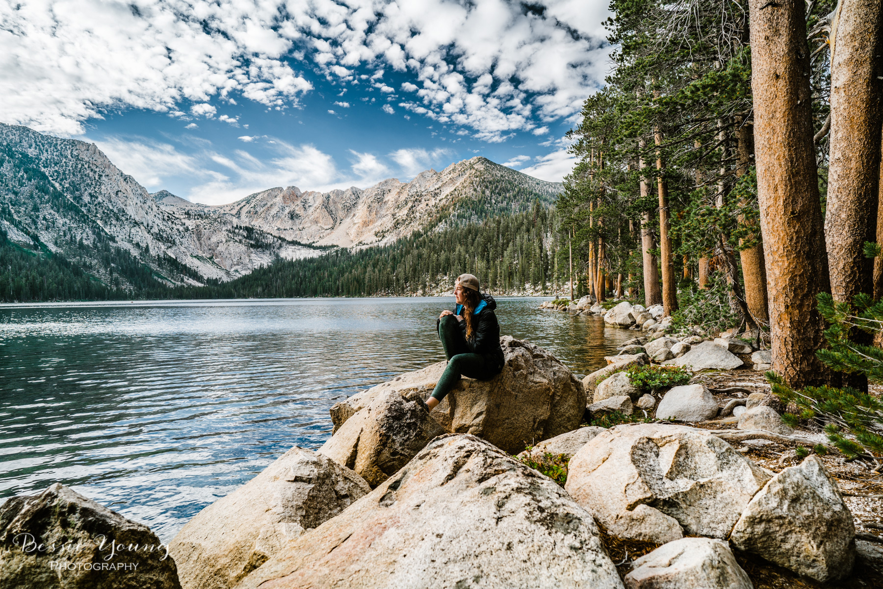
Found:
M 578 117 L 608 67 L 607 0 L 17 0 L 0 3 L 0 119 L 58 134 L 106 109 L 212 117 L 234 94 L 283 109 L 333 80 L 412 81 L 411 112 L 479 140 Z M 562 25 L 562 23 L 566 23 Z M 360 70 L 360 71 L 359 71 Z M 412 83 L 413 82 L 413 83 Z M 214 107 L 212 107 L 214 108 Z

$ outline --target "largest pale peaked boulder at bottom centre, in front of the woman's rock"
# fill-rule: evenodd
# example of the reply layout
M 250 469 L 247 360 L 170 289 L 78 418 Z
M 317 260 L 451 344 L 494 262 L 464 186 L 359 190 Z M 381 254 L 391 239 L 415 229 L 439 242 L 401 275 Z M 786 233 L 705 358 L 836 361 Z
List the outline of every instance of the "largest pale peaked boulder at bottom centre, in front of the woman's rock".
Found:
M 396 476 L 239 585 L 623 587 L 591 514 L 554 481 L 466 434 Z

